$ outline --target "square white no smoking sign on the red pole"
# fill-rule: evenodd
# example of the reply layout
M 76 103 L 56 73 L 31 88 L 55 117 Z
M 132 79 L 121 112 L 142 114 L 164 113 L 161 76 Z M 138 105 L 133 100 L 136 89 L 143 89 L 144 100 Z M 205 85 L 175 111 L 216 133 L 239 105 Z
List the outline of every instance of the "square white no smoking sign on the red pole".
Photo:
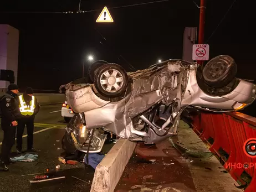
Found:
M 209 60 L 209 45 L 203 45 L 203 44 L 193 45 L 192 59 L 194 61 L 207 61 L 207 60 Z

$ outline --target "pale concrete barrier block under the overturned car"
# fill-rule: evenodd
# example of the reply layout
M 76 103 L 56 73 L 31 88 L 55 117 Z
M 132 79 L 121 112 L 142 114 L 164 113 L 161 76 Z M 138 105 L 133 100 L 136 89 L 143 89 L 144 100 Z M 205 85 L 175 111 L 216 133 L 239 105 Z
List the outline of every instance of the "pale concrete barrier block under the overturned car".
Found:
M 90 192 L 113 192 L 137 142 L 120 138 L 96 167 Z

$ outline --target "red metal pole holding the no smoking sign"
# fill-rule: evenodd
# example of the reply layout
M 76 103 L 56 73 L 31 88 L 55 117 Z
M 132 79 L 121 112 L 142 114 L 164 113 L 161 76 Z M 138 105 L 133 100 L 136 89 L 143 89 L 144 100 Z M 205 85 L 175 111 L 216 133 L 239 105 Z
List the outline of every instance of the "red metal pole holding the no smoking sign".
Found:
M 204 23 L 206 19 L 206 0 L 200 1 L 200 15 L 199 15 L 199 33 L 198 44 L 203 44 L 204 40 Z M 203 64 L 203 61 L 197 61 L 198 64 Z

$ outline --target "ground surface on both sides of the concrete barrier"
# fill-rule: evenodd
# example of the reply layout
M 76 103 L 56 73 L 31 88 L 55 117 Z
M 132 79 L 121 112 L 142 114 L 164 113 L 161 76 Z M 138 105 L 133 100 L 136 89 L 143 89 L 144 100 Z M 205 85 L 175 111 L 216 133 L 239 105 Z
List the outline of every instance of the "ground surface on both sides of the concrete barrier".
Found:
M 61 117 L 62 105 L 42 106 L 35 118 L 34 147 L 37 149 L 39 160 L 36 162 L 17 162 L 9 165 L 9 172 L 0 172 L 0 191 L 90 191 L 94 169 L 84 164 L 66 165 L 58 161 L 63 152 L 61 140 L 65 131 L 66 123 Z M 179 140 L 185 146 L 191 147 L 191 143 L 198 143 L 197 136 L 192 138 L 192 130 L 180 128 Z M 185 132 L 182 132 L 182 130 Z M 26 148 L 26 136 L 24 132 L 23 149 Z M 194 134 L 196 135 L 196 134 Z M 0 142 L 3 132 L 0 131 Z M 188 142 L 186 144 L 186 142 Z M 0 143 L 1 147 L 2 143 Z M 106 145 L 107 146 L 107 145 Z M 167 147 L 166 147 L 167 146 Z M 202 158 L 183 161 L 176 149 L 166 146 L 150 147 L 149 149 L 137 148 L 137 153 L 130 159 L 124 174 L 117 184 L 115 192 L 128 191 L 233 191 L 235 181 L 224 172 L 217 159 L 202 160 Z M 198 146 L 196 146 L 198 148 Z M 205 146 L 201 146 L 205 148 Z M 107 152 L 111 146 L 105 147 Z M 16 154 L 16 146 L 13 146 L 13 155 Z M 136 151 L 136 150 L 135 150 Z M 163 154 L 165 153 L 165 155 Z M 25 152 L 23 153 L 23 155 Z M 154 163 L 141 162 L 136 155 L 142 154 L 147 160 L 155 160 Z M 165 156 L 165 157 L 163 157 Z M 29 180 L 35 173 L 42 173 L 48 168 L 54 170 L 60 165 L 59 175 L 65 176 L 63 180 L 45 181 L 43 183 L 30 184 Z M 75 177 L 75 178 L 74 178 Z M 77 179 L 78 178 L 78 179 Z M 80 180 L 81 179 L 81 180 Z

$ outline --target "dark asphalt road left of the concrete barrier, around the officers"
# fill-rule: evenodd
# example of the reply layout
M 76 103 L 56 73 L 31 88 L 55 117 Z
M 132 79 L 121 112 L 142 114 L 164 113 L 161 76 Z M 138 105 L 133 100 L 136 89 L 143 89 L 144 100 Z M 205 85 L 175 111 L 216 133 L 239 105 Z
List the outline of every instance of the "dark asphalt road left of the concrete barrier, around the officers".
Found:
M 0 191 L 90 191 L 90 185 L 84 181 L 92 181 L 93 168 L 82 163 L 66 165 L 58 161 L 58 157 L 63 152 L 61 141 L 66 126 L 64 118 L 61 116 L 61 107 L 61 104 L 42 106 L 35 118 L 34 129 L 34 148 L 37 149 L 34 154 L 38 154 L 39 158 L 35 162 L 17 162 L 8 165 L 9 172 L 0 172 Z M 26 134 L 27 132 L 23 134 L 23 149 L 26 149 Z M 0 142 L 2 142 L 2 138 L 1 130 Z M 2 143 L 0 143 L 0 148 L 1 146 Z M 23 152 L 22 155 L 24 154 L 26 152 Z M 19 156 L 16 154 L 16 146 L 12 148 L 12 155 Z M 47 168 L 55 170 L 56 165 L 60 165 L 58 174 L 65 176 L 65 179 L 30 184 L 29 180 L 34 175 L 27 174 L 43 173 Z

